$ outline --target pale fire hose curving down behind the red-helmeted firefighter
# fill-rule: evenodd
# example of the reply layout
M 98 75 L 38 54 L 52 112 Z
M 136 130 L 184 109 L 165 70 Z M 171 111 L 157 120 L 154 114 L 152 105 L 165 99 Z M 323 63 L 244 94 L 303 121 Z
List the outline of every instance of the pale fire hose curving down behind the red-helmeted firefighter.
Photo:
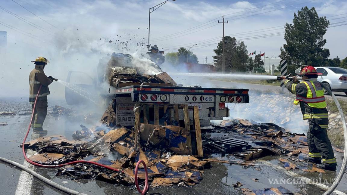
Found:
M 339 110 L 339 113 L 341 115 L 341 121 L 342 121 L 342 126 L 344 127 L 344 138 L 345 138 L 345 150 L 344 150 L 344 159 L 342 160 L 342 166 L 339 172 L 339 175 L 337 176 L 337 178 L 335 179 L 334 183 L 330 186 L 330 188 L 323 194 L 323 195 L 329 195 L 331 194 L 335 188 L 339 185 L 342 176 L 345 173 L 345 169 L 346 169 L 346 164 L 347 164 L 347 159 L 346 159 L 346 154 L 347 154 L 347 125 L 346 125 L 346 119 L 345 119 L 345 115 L 344 112 L 342 111 L 341 105 L 339 103 L 339 101 L 337 100 L 336 96 L 331 92 L 331 90 L 329 89 L 329 87 L 323 85 L 321 83 L 322 87 L 325 88 L 325 90 L 327 90 L 329 92 L 329 94 L 331 95 L 332 99 L 334 100 L 337 109 Z

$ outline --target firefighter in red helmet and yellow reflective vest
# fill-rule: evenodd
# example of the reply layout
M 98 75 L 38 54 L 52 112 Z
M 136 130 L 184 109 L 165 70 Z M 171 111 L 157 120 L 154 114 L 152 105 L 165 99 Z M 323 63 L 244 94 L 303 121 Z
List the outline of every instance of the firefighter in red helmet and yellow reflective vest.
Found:
M 302 82 L 298 82 L 297 79 L 291 82 L 285 77 L 282 82 L 290 93 L 296 95 L 294 104 L 300 104 L 303 119 L 308 120 L 308 157 L 304 160 L 316 163 L 318 168 L 336 171 L 336 159 L 327 134 L 327 103 L 322 84 L 317 81 L 318 73 L 314 67 L 305 66 L 299 76 L 302 77 Z

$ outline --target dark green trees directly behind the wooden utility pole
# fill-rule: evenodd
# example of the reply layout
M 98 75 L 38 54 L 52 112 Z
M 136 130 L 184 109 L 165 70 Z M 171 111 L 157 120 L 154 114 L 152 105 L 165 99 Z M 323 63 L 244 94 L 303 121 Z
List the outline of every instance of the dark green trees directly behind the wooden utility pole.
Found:
M 235 37 L 225 36 L 225 72 L 244 72 L 246 71 L 248 51 L 245 43 L 236 41 Z M 213 56 L 215 70 L 222 71 L 222 53 L 223 43 L 218 43 L 217 49 L 214 49 L 216 56 Z

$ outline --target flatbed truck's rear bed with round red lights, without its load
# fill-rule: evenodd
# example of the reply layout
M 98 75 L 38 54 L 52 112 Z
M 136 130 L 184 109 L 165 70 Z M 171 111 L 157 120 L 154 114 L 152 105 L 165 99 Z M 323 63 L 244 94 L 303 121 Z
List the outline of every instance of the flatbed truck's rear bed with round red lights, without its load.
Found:
M 146 115 L 144 112 L 154 113 L 154 115 L 148 116 L 148 123 L 158 123 L 158 125 L 168 124 L 167 121 L 176 121 L 177 123 L 184 121 L 183 110 L 178 107 L 172 108 L 170 105 L 187 104 L 191 121 L 193 119 L 193 107 L 198 106 L 200 125 L 207 126 L 210 124 L 210 120 L 221 120 L 223 117 L 229 116 L 229 103 L 249 102 L 248 90 L 245 89 L 133 85 L 112 88 L 111 93 L 115 98 L 108 108 L 108 114 L 112 118 L 116 118 L 116 121 L 105 121 L 111 126 L 116 124 L 134 126 L 133 109 L 135 105 L 148 107 L 147 111 L 141 112 L 142 121 L 143 116 Z M 158 108 L 155 108 L 156 106 Z M 158 112 L 158 118 L 155 118 L 156 112 Z M 176 125 L 180 126 L 179 124 Z

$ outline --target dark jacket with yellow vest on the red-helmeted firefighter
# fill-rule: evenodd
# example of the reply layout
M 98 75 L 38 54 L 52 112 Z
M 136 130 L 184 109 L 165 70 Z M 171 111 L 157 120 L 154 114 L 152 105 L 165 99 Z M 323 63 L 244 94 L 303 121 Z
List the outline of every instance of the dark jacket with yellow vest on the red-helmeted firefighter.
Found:
M 324 92 L 317 79 L 307 79 L 300 83 L 293 83 L 283 79 L 290 93 L 296 95 L 294 104 L 300 104 L 304 120 L 313 120 L 321 128 L 328 127 L 328 110 Z

